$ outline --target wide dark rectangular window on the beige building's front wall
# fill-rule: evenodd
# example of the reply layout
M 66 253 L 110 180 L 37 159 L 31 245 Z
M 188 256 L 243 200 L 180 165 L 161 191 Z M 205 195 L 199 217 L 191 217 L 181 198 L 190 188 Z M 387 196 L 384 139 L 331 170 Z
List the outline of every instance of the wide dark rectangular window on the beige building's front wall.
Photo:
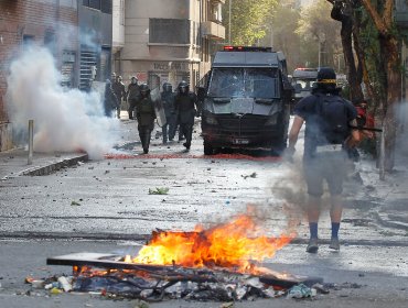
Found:
M 150 19 L 149 42 L 190 44 L 190 21 L 180 19 Z

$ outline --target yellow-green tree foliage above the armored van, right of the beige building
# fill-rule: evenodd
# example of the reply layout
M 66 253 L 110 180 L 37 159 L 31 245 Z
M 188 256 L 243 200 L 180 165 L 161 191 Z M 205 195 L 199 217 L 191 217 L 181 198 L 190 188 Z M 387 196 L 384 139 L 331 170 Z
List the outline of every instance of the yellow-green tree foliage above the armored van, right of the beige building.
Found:
M 255 45 L 265 37 L 267 26 L 277 0 L 228 0 L 230 2 L 230 24 L 227 31 L 230 36 L 228 40 L 233 45 Z M 229 3 L 228 3 L 229 4 Z M 225 20 L 229 20 L 229 6 L 224 6 Z

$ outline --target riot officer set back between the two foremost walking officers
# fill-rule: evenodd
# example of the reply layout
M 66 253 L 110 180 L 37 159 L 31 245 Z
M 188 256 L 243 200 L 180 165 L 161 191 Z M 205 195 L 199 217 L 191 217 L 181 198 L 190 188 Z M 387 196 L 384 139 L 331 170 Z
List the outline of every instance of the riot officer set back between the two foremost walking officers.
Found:
M 163 84 L 163 91 L 161 92 L 161 103 L 164 108 L 165 124 L 162 127 L 163 143 L 168 140 L 173 141 L 175 134 L 175 111 L 174 111 L 174 95 L 173 87 L 170 82 Z

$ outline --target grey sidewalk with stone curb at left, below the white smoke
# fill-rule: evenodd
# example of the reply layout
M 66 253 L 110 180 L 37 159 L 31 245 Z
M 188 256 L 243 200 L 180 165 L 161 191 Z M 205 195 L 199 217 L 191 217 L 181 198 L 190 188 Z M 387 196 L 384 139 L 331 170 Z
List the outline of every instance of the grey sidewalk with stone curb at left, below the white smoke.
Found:
M 29 165 L 28 151 L 14 148 L 0 152 L 0 180 L 21 175 L 47 175 L 61 168 L 73 166 L 88 160 L 86 153 L 33 153 L 32 164 Z

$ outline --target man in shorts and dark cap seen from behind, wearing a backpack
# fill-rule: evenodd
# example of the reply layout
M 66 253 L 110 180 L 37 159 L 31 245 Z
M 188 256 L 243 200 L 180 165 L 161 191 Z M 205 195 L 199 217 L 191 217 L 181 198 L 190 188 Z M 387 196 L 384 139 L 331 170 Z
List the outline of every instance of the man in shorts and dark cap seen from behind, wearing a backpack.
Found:
M 309 253 L 315 253 L 319 249 L 318 222 L 324 179 L 331 195 L 330 248 L 340 250 L 339 229 L 343 211 L 341 195 L 346 176 L 346 147 L 358 142 L 359 133 L 351 129 L 356 125 L 356 109 L 350 101 L 342 99 L 339 91 L 334 70 L 329 67 L 320 68 L 316 88 L 294 107 L 294 120 L 289 133 L 287 154 L 291 156 L 305 122 L 303 172 L 309 194 Z

